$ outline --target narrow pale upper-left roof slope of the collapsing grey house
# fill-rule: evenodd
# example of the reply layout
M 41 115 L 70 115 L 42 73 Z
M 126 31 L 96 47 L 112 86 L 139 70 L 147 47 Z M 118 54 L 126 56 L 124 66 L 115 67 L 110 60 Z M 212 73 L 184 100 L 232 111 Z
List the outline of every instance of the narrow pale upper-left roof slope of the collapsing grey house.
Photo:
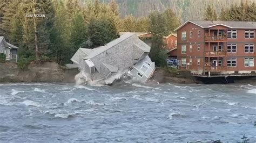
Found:
M 88 56 L 86 56 L 84 59 L 91 59 L 91 58 L 107 51 L 107 49 L 110 49 L 113 46 L 116 46 L 117 44 L 119 44 L 120 42 L 130 38 L 132 35 L 134 35 L 134 33 L 127 32 L 126 34 L 123 34 L 120 36 L 120 38 L 117 38 L 117 39 L 109 42 L 105 46 L 100 46 L 98 48 L 93 49 L 92 52 Z

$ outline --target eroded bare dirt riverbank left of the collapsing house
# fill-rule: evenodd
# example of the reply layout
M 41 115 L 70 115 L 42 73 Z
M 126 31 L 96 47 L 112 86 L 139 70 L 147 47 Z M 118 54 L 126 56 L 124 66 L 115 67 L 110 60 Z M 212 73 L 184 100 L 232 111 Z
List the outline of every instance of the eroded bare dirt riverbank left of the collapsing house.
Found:
M 19 69 L 16 63 L 0 63 L 0 82 L 74 82 L 78 69 L 68 69 L 56 62 L 41 65 L 30 64 L 27 69 Z

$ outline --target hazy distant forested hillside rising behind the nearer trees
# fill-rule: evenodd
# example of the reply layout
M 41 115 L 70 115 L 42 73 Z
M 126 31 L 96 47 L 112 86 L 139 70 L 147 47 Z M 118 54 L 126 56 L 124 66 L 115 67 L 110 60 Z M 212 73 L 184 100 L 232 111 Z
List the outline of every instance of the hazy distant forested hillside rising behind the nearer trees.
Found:
M 86 1 L 91 0 L 81 0 Z M 110 0 L 102 0 L 109 3 Z M 201 20 L 207 5 L 213 4 L 219 14 L 222 8 L 228 8 L 232 4 L 239 4 L 245 0 L 116 0 L 119 5 L 121 17 L 132 14 L 135 17 L 149 15 L 152 10 L 164 11 L 171 8 L 181 18 L 182 22 L 188 19 Z M 255 2 L 256 0 L 248 0 Z

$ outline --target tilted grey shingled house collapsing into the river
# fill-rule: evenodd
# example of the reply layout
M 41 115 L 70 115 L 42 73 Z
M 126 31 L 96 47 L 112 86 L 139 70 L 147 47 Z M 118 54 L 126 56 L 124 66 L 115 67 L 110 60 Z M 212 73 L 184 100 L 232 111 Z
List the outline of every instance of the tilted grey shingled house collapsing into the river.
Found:
M 78 65 L 78 83 L 111 84 L 117 79 L 147 82 L 155 70 L 150 46 L 134 33 L 125 33 L 105 46 L 79 48 L 71 61 Z

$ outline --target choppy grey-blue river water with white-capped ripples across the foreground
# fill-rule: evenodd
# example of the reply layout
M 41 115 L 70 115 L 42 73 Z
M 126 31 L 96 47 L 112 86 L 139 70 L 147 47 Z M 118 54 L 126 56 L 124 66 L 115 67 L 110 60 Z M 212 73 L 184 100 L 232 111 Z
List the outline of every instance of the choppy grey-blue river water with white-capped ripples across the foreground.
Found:
M 0 84 L 0 142 L 255 142 L 254 121 L 250 84 Z

